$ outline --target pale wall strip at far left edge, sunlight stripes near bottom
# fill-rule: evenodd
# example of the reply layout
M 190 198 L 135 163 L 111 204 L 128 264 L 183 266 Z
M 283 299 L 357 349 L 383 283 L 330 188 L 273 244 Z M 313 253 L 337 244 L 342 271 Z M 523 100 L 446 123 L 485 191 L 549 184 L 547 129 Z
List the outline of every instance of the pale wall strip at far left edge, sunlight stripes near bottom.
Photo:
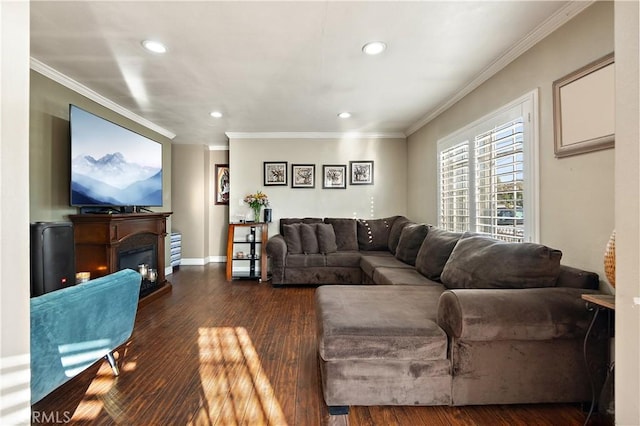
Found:
M 29 3 L 0 2 L 0 424 L 29 424 Z

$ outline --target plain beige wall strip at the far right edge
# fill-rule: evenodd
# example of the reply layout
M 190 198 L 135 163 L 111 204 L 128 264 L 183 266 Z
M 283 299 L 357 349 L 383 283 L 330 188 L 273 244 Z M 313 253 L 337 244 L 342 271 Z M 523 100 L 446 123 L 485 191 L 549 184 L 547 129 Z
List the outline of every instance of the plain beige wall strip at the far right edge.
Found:
M 640 8 L 616 2 L 616 424 L 640 424 Z

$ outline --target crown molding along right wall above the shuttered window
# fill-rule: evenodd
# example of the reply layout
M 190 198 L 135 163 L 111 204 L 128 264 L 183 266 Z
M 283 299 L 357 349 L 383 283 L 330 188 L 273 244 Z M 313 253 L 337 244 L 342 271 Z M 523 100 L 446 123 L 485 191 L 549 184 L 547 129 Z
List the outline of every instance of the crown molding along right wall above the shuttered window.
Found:
M 511 46 L 509 50 L 502 54 L 488 67 L 482 70 L 480 74 L 478 74 L 465 87 L 463 87 L 462 90 L 456 93 L 453 97 L 449 98 L 446 102 L 432 109 L 424 118 L 411 125 L 405 131 L 407 136 L 410 136 L 413 133 L 417 132 L 418 130 L 420 130 L 420 128 L 451 108 L 460 99 L 467 96 L 473 90 L 478 88 L 482 83 L 493 77 L 520 55 L 531 49 L 552 32 L 569 22 L 576 15 L 585 10 L 587 7 L 591 6 L 593 3 L 595 3 L 595 0 L 568 2 L 556 13 L 547 18 L 542 24 L 538 25 L 533 31 L 527 34 L 522 40 Z

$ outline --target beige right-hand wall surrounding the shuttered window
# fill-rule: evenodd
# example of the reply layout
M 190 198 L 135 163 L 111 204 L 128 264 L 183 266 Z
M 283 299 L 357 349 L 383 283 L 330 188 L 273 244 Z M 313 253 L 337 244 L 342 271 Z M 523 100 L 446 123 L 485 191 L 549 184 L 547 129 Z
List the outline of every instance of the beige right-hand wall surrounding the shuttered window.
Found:
M 614 227 L 614 150 L 554 156 L 552 83 L 614 50 L 613 3 L 597 2 L 409 136 L 408 211 L 437 223 L 438 139 L 539 88 L 540 242 L 604 277 Z

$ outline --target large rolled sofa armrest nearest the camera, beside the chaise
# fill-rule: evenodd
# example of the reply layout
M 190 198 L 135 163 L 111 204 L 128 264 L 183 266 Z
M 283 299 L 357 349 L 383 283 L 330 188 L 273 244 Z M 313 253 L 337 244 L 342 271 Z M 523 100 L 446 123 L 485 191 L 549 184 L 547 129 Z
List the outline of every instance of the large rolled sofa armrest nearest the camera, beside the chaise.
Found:
M 447 290 L 438 325 L 451 338 L 470 341 L 581 338 L 589 326 L 577 288 Z

